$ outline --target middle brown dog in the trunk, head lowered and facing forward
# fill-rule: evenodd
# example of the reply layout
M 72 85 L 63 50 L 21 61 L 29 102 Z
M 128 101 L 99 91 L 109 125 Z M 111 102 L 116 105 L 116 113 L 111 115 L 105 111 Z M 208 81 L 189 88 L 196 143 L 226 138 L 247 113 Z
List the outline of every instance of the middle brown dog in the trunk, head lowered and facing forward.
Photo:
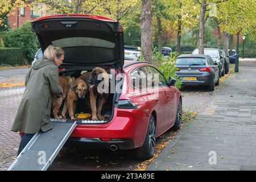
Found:
M 67 100 L 65 101 L 61 115 L 65 116 L 68 110 L 70 118 L 73 119 L 76 111 L 75 101 L 77 101 L 79 98 L 84 98 L 87 92 L 88 86 L 85 81 L 80 78 L 77 78 L 75 81 L 73 81 L 71 88 L 68 91 Z

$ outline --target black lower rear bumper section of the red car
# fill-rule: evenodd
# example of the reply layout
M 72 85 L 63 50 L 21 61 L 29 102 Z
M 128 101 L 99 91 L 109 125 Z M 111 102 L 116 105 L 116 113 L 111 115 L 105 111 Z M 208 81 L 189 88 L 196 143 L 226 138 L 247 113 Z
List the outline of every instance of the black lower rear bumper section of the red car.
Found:
M 100 138 L 77 138 L 71 137 L 67 140 L 65 146 L 74 147 L 79 146 L 81 148 L 102 148 L 109 149 L 110 146 L 117 146 L 118 150 L 132 149 L 134 148 L 133 141 L 131 139 L 123 139 L 119 141 L 102 141 Z

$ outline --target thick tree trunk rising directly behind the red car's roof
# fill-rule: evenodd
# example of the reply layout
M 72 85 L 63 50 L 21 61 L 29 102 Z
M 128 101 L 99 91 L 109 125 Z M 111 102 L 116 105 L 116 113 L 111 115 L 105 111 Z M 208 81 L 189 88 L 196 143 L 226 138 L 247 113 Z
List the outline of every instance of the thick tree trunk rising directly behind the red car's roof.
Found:
M 141 9 L 141 49 L 146 61 L 152 59 L 152 10 L 151 0 L 142 0 Z

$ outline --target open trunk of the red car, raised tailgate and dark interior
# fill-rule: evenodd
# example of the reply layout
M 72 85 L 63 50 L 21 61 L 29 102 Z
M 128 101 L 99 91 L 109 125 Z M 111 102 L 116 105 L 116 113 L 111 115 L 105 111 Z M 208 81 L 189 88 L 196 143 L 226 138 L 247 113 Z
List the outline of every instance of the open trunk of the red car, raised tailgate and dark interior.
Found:
M 49 45 L 63 48 L 65 55 L 61 67 L 64 71 L 60 72 L 61 76 L 77 78 L 95 67 L 122 72 L 123 30 L 117 20 L 96 15 L 46 16 L 32 22 L 32 31 L 36 32 L 43 52 Z M 118 98 L 117 93 L 109 94 L 102 108 L 102 115 L 109 117 L 104 122 L 112 119 L 113 103 Z M 76 113 L 91 113 L 91 110 L 84 100 L 79 100 Z

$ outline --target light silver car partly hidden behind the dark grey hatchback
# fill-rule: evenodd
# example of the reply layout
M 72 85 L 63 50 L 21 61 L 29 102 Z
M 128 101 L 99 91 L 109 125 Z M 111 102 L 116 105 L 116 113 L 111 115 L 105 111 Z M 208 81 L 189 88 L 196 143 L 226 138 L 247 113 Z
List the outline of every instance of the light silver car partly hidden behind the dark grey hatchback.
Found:
M 198 49 L 195 49 L 192 54 L 198 54 Z M 216 48 L 204 48 L 204 54 L 209 55 L 212 57 L 212 60 L 214 63 L 217 63 L 217 67 L 220 71 L 219 75 L 224 76 L 225 75 L 225 60 L 224 57 L 221 56 L 220 49 Z

